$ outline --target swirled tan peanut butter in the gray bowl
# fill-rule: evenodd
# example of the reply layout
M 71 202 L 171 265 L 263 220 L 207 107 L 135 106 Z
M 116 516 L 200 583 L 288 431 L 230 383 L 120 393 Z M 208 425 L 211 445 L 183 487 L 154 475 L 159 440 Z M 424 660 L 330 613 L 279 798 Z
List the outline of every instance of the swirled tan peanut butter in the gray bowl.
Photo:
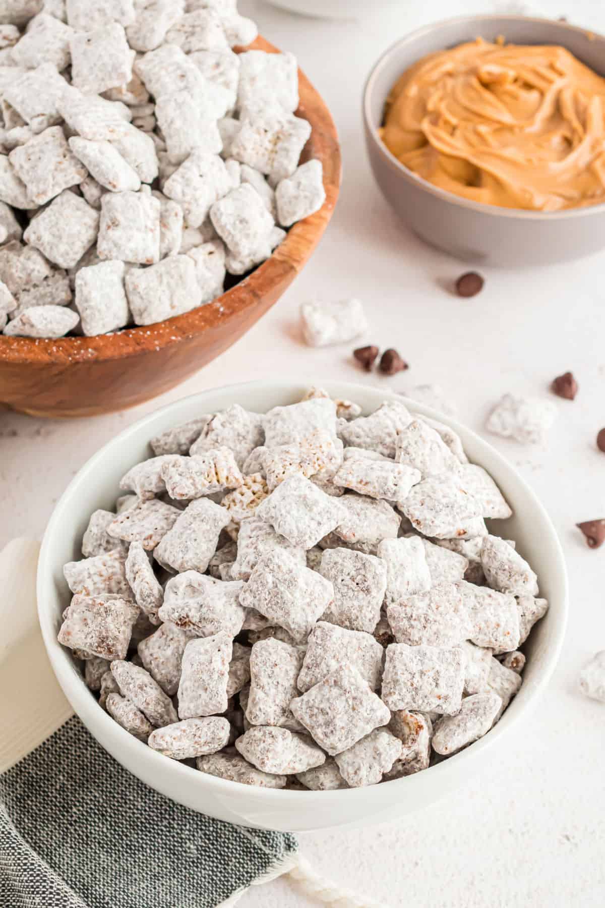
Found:
M 605 202 L 605 78 L 558 46 L 478 38 L 408 69 L 387 148 L 474 202 L 552 212 Z

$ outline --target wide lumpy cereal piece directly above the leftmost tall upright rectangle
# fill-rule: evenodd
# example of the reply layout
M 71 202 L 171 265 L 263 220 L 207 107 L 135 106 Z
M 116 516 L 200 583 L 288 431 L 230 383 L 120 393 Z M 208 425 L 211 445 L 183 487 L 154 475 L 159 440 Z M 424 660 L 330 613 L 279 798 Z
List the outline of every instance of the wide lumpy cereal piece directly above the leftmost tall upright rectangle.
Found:
M 160 618 L 198 637 L 220 631 L 235 637 L 245 616 L 239 604 L 241 589 L 240 581 L 215 580 L 197 571 L 184 571 L 166 584 Z

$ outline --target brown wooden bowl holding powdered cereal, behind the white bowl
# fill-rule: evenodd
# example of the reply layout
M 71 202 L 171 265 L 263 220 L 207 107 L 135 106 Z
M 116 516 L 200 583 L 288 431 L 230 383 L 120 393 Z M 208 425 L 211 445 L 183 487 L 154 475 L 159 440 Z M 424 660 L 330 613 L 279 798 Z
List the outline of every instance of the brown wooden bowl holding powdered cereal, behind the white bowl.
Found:
M 278 53 L 259 37 L 251 48 Z M 278 301 L 326 230 L 340 185 L 340 148 L 326 104 L 298 71 L 298 116 L 312 132 L 301 160 L 324 168 L 326 202 L 267 260 L 218 299 L 154 325 L 36 341 L 0 334 L 0 407 L 32 416 L 95 416 L 170 390 L 227 350 Z

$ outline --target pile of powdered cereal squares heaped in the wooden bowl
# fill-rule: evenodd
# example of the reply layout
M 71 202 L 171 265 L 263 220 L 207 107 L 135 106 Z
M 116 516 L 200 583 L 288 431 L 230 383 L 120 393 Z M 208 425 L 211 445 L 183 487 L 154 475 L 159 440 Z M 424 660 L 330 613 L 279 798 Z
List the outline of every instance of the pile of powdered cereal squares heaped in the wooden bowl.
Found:
M 317 212 L 296 58 L 256 36 L 236 0 L 0 3 L 0 330 L 181 315 Z

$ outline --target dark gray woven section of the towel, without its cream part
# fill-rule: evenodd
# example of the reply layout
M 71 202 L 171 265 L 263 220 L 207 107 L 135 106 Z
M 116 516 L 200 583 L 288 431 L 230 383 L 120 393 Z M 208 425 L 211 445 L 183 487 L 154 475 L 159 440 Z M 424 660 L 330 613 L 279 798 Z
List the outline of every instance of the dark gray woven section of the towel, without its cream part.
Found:
M 0 776 L 3 908 L 215 908 L 297 848 L 159 795 L 76 716 Z

